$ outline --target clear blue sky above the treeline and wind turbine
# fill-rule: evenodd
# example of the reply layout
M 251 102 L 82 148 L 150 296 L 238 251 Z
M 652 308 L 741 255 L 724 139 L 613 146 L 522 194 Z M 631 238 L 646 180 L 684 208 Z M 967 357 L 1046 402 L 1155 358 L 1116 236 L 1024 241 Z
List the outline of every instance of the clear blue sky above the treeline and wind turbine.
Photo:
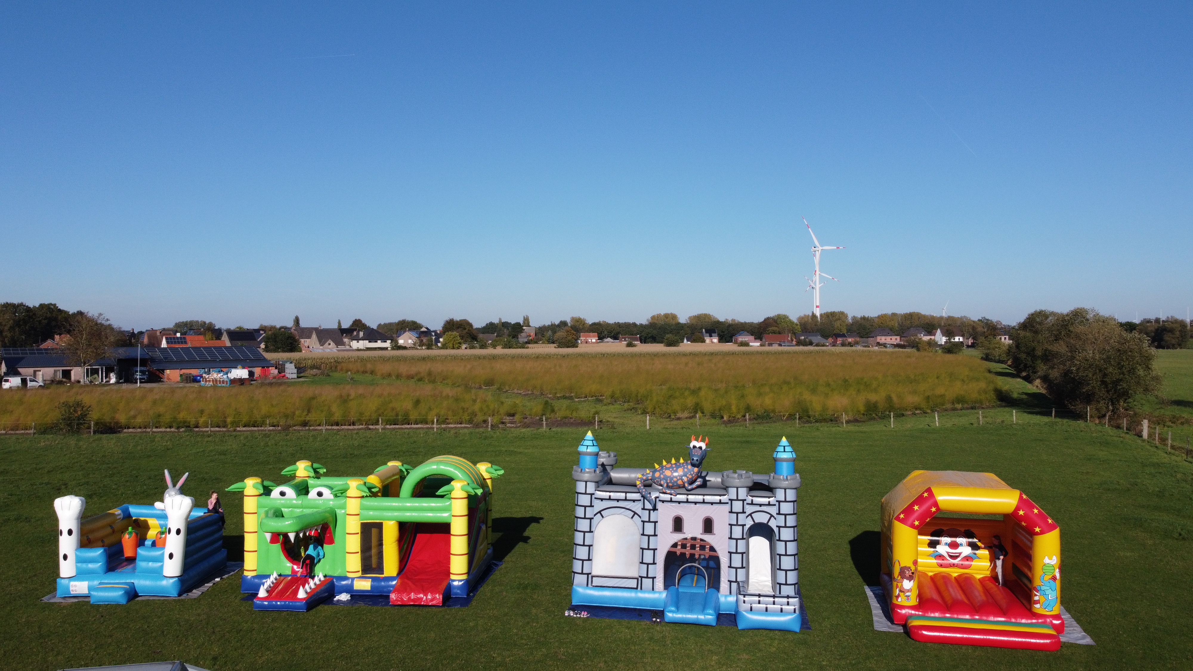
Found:
M 246 6 L 247 5 L 247 6 Z M 0 300 L 126 327 L 1193 304 L 1193 5 L 0 5 Z

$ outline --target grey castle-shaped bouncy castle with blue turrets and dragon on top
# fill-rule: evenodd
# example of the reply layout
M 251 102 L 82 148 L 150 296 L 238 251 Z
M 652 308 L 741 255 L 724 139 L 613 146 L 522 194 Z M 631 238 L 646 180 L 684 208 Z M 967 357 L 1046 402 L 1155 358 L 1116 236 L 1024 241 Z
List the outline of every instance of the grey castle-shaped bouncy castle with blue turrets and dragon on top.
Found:
M 774 473 L 755 475 L 700 470 L 705 443 L 691 448 L 688 462 L 616 468 L 591 431 L 580 443 L 570 614 L 798 632 L 795 451 L 784 438 Z

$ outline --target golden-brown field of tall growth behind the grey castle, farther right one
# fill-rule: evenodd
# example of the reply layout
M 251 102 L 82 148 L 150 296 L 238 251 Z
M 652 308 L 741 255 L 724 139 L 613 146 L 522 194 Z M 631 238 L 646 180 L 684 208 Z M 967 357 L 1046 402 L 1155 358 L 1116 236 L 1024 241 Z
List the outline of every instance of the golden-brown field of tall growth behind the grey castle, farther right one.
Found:
M 885 350 L 507 357 L 360 357 L 320 362 L 400 380 L 598 396 L 642 412 L 729 418 L 871 414 L 991 405 L 997 382 L 970 357 Z

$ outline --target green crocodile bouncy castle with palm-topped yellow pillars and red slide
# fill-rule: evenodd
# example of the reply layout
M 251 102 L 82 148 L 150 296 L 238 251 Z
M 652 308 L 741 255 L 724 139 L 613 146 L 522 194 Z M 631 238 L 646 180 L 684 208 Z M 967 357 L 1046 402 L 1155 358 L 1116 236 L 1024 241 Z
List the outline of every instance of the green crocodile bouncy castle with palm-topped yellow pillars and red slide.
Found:
M 285 485 L 246 478 L 245 575 L 256 610 L 309 610 L 336 597 L 389 596 L 394 605 L 450 605 L 493 566 L 493 479 L 503 472 L 456 456 L 410 469 L 390 461 L 363 478 L 310 461 Z M 348 595 L 348 596 L 344 596 Z

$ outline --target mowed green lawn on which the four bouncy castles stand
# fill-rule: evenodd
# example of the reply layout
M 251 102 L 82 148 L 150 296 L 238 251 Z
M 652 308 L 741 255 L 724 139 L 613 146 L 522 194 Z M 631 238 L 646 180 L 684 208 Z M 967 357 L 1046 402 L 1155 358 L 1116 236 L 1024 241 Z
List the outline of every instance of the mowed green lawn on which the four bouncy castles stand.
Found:
M 1009 411 L 1007 411 L 1009 412 Z M 811 630 L 564 617 L 569 605 L 573 481 L 583 430 L 392 433 L 124 435 L 0 438 L 0 579 L 4 667 L 62 669 L 183 659 L 212 670 L 326 669 L 1189 669 L 1193 642 L 1193 464 L 1138 438 L 1068 420 L 977 426 L 963 413 L 882 423 L 705 427 L 707 469 L 769 472 L 784 435 L 799 490 L 801 585 Z M 691 429 L 600 430 L 620 466 L 682 456 Z M 344 608 L 255 612 L 239 580 L 197 599 L 128 605 L 38 599 L 56 575 L 55 497 L 87 498 L 94 513 L 157 500 L 161 469 L 190 470 L 205 499 L 247 475 L 280 481 L 298 458 L 330 474 L 365 474 L 456 454 L 502 466 L 495 531 L 505 565 L 465 609 Z M 910 470 L 990 470 L 1026 491 L 1062 528 L 1062 603 L 1096 641 L 1043 653 L 928 645 L 874 632 L 863 585 L 877 567 L 879 499 Z M 240 498 L 223 495 L 227 534 Z

